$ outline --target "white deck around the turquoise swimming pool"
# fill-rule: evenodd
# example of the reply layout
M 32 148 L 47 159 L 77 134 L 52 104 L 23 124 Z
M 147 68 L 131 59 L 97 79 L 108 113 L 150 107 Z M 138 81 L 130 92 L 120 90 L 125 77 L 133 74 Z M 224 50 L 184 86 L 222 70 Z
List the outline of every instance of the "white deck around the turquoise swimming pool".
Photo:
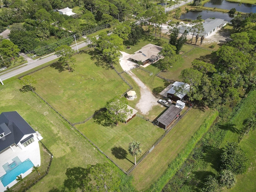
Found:
M 12 150 L 13 149 L 13 150 Z M 39 143 L 37 138 L 35 138 L 35 141 L 26 146 L 24 149 L 20 149 L 18 146 L 13 145 L 12 149 L 9 147 L 6 150 L 4 150 L 0 154 L 0 177 L 6 174 L 6 171 L 4 170 L 4 165 L 5 164 L 11 164 L 13 162 L 12 159 L 18 158 L 20 159 L 21 162 L 24 162 L 26 159 L 30 159 L 31 162 L 34 164 L 34 166 L 37 166 L 41 164 L 41 157 L 40 157 L 40 148 L 39 148 Z M 27 176 L 32 172 L 32 168 L 30 168 L 28 171 L 22 174 L 22 178 Z M 14 184 L 16 184 L 16 180 L 8 184 L 7 186 L 10 188 Z M 6 187 L 2 184 L 0 181 L 0 192 L 6 190 Z

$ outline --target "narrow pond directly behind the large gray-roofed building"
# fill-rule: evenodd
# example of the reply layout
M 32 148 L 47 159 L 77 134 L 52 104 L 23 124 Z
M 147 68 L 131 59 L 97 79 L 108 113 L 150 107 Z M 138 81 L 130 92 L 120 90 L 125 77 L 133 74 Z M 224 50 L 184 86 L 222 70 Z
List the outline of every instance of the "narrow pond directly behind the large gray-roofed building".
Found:
M 180 16 L 180 19 L 192 19 L 196 20 L 198 15 L 202 15 L 202 19 L 206 20 L 207 18 L 218 18 L 218 19 L 224 19 L 225 21 L 230 22 L 234 16 L 231 16 L 227 13 L 222 13 L 222 12 L 213 12 L 213 11 L 190 11 L 186 14 L 182 14 Z

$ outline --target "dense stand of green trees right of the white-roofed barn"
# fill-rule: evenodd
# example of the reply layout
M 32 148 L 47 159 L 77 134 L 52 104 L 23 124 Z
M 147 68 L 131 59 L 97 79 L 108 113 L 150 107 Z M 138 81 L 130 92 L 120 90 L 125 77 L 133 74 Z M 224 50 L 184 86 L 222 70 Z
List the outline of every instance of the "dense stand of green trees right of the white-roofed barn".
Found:
M 237 32 L 215 53 L 218 62 L 194 60 L 192 68 L 182 70 L 180 79 L 191 86 L 190 100 L 218 107 L 238 100 L 240 89 L 246 93 L 256 87 L 256 14 L 248 14 L 240 22 L 241 16 L 237 17 L 232 20 Z

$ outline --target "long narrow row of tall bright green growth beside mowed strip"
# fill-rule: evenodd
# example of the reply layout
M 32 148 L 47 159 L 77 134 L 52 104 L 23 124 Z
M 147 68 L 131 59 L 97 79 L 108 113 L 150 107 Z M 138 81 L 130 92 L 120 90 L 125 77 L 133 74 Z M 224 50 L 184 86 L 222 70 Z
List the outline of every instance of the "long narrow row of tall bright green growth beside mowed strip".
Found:
M 197 142 L 202 136 L 209 130 L 210 126 L 214 123 L 214 120 L 218 117 L 218 111 L 212 111 L 212 114 L 204 120 L 204 123 L 195 132 L 194 136 L 190 139 L 184 150 L 178 154 L 178 156 L 168 165 L 168 169 L 162 174 L 158 180 L 150 186 L 146 192 L 161 192 L 162 188 L 168 183 L 168 181 L 174 176 L 174 174 L 180 169 L 180 166 L 188 158 Z

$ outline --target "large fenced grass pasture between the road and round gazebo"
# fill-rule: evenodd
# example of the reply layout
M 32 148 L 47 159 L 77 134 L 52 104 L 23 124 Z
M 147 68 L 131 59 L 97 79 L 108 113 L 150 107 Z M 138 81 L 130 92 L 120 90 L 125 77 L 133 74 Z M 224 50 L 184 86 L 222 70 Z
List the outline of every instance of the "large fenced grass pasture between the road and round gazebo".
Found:
M 97 66 L 88 54 L 77 54 L 73 72 L 58 66 L 32 74 L 36 92 L 70 122 L 80 122 L 130 88 L 114 70 Z

